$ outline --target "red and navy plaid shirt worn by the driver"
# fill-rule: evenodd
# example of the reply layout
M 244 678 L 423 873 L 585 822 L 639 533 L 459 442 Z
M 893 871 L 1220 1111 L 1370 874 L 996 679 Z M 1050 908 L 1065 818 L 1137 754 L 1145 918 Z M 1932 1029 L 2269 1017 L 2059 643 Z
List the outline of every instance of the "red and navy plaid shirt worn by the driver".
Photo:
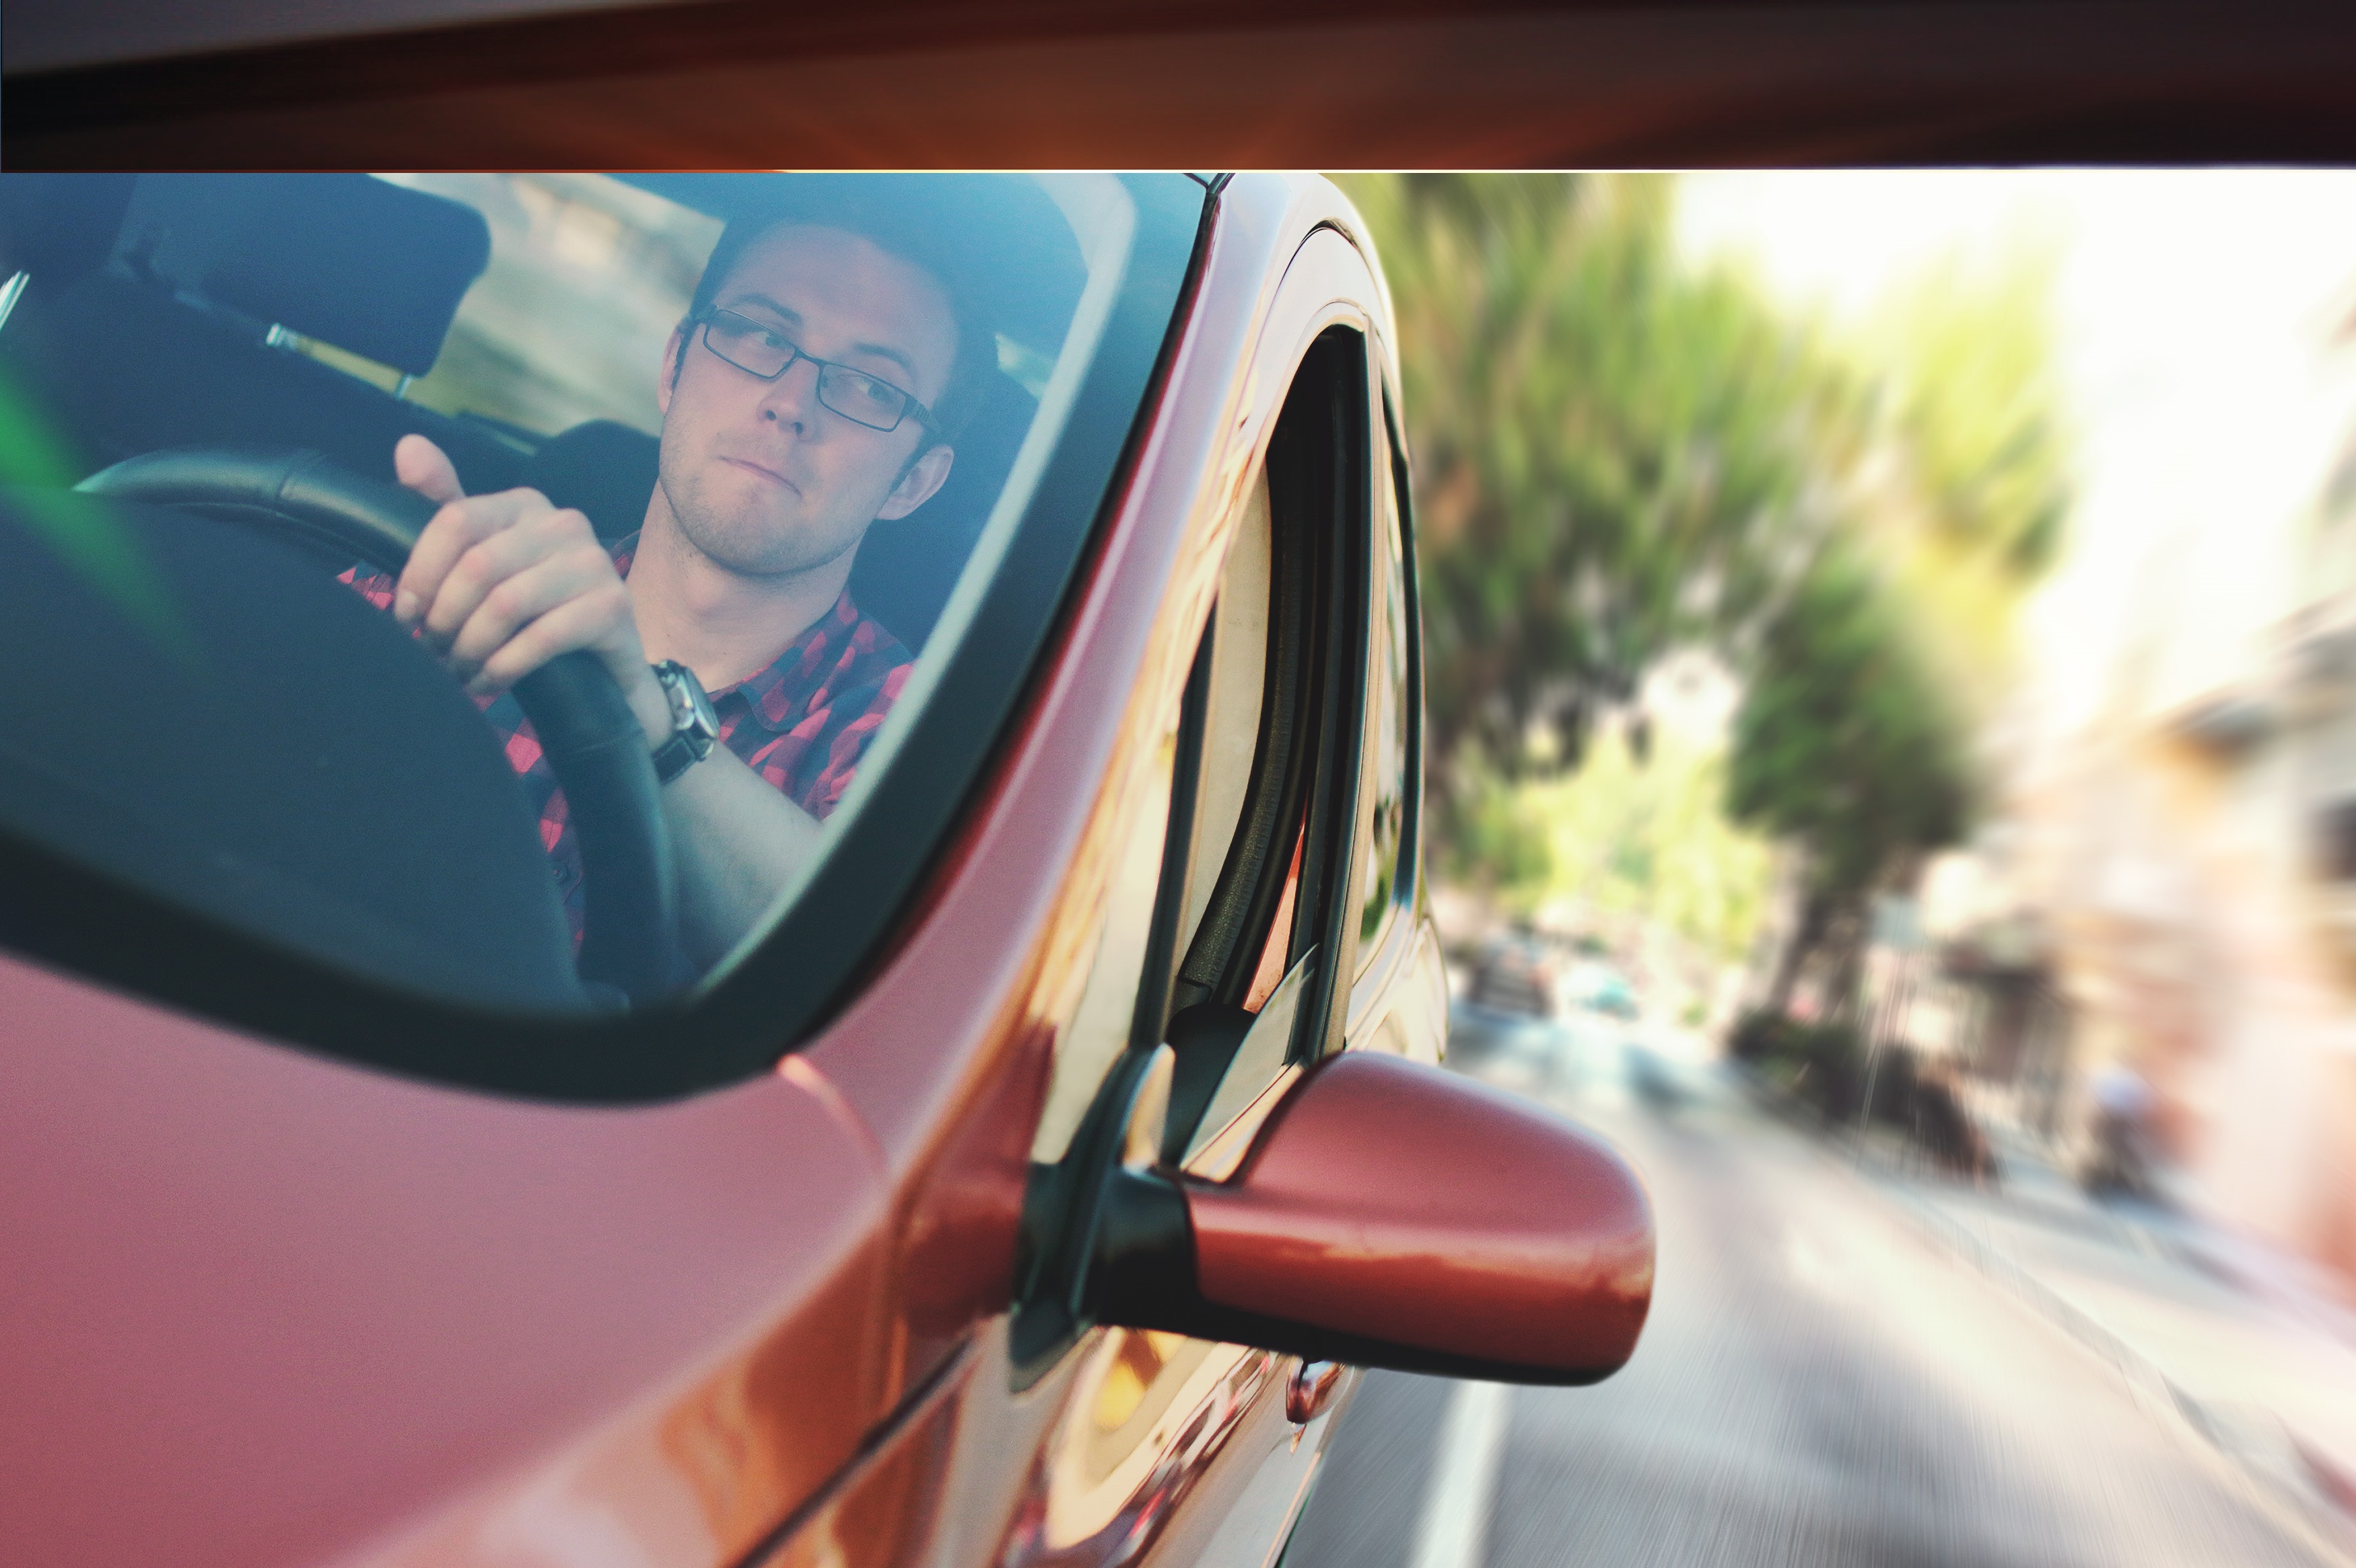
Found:
M 613 565 L 629 577 L 638 537 L 613 546 Z M 377 610 L 393 607 L 389 572 L 344 572 Z M 827 817 L 851 789 L 860 756 L 907 685 L 909 655 L 900 640 L 860 614 L 846 589 L 834 610 L 794 638 L 766 669 L 712 692 L 721 718 L 721 744 L 768 779 L 787 800 Z M 478 697 L 483 718 L 507 744 L 507 763 L 523 777 L 523 791 L 540 812 L 540 843 L 565 899 L 573 942 L 582 939 L 582 850 L 565 810 L 565 791 L 540 756 L 532 720 L 511 692 Z

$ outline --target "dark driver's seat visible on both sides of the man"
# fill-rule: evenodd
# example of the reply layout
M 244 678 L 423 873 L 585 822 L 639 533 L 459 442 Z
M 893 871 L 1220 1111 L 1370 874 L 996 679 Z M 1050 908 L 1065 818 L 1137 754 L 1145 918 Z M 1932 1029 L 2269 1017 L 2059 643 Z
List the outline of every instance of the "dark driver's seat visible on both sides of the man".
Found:
M 912 652 L 933 636 L 1037 412 L 1039 403 L 1013 377 L 992 372 L 940 492 L 909 516 L 867 530 L 851 567 L 851 598 Z M 577 506 L 598 537 L 613 542 L 646 520 L 657 461 L 660 443 L 646 431 L 591 419 L 542 443 L 523 483 L 558 506 Z

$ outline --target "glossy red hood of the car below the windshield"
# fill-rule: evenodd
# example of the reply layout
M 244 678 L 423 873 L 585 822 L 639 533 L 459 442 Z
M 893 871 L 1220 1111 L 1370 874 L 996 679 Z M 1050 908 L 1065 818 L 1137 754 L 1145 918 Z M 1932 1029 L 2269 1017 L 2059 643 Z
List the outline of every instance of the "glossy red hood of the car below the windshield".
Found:
M 492 1099 L 9 958 L 0 1017 L 28 1561 L 327 1561 L 483 1488 L 481 1552 L 443 1561 L 582 1519 L 723 1561 L 874 1420 L 884 1191 L 782 1076 L 629 1111 Z M 759 1462 L 714 1462 L 735 1453 Z M 629 1488 L 568 1502 L 615 1469 Z

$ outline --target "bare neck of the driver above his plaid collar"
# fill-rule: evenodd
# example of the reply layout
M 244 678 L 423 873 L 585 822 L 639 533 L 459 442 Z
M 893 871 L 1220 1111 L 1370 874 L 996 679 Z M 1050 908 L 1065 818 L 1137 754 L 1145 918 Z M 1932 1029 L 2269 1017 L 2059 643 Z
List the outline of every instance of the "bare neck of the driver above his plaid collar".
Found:
M 834 607 L 855 556 L 851 549 L 806 572 L 744 577 L 695 549 L 657 490 L 629 563 L 629 603 L 646 657 L 679 659 L 707 690 L 735 685 L 775 664 Z

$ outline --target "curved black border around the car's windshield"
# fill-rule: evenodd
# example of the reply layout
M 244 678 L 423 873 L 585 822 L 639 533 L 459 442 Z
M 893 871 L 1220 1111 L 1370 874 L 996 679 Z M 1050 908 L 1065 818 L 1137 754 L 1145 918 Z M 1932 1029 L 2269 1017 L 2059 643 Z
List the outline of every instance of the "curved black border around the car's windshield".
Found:
M 5 829 L 0 949 L 316 1055 L 525 1099 L 648 1104 L 775 1067 L 865 989 L 924 906 L 1162 405 L 1218 200 L 1187 174 L 1121 184 L 1129 273 L 971 631 L 825 864 L 709 991 L 629 1015 L 495 1015 L 330 970 Z

